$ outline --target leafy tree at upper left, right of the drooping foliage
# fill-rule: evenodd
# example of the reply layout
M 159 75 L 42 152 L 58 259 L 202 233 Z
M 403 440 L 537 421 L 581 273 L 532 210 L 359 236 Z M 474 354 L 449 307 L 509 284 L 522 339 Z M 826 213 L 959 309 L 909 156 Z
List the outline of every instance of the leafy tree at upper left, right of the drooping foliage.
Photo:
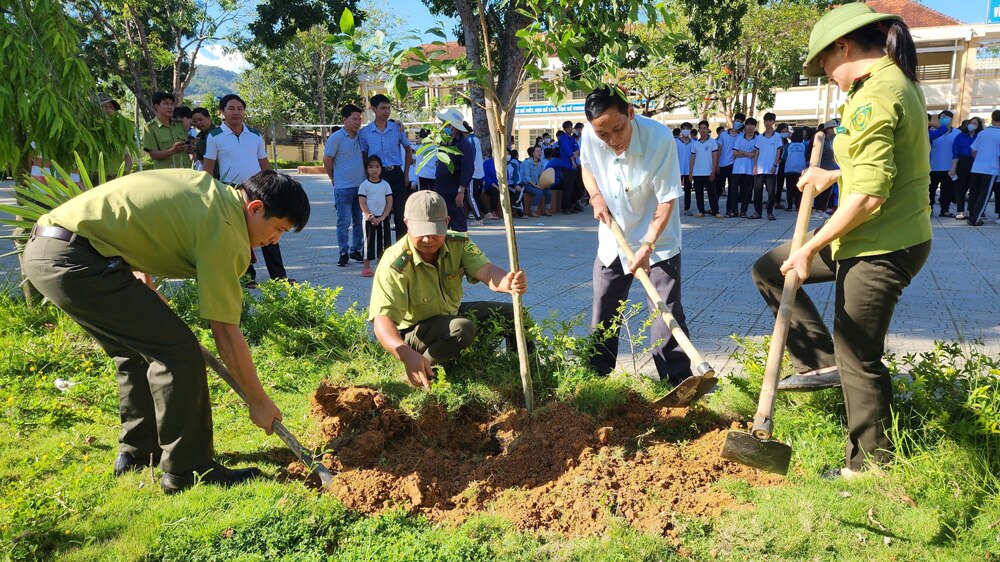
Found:
M 67 0 L 87 29 L 83 54 L 99 78 L 117 77 L 147 119 L 152 94 L 181 100 L 201 50 L 242 25 L 249 0 Z

